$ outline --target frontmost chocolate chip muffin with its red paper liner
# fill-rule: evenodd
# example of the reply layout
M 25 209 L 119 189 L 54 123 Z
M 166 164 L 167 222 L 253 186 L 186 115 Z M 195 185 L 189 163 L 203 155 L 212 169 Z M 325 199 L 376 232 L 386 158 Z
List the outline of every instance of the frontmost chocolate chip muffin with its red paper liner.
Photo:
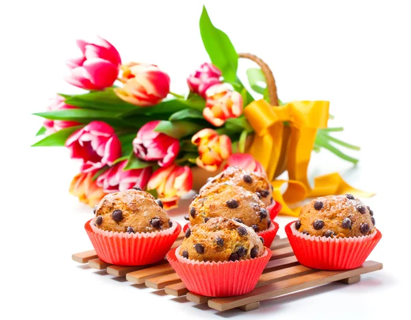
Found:
M 167 260 L 190 292 L 228 297 L 252 291 L 271 254 L 253 228 L 212 217 L 188 229 Z

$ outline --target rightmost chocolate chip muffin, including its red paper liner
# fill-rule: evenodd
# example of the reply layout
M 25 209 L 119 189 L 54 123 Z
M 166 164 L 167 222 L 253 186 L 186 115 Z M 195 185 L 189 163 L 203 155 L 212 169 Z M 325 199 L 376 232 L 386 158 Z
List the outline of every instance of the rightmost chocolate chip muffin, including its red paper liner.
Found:
M 316 198 L 286 226 L 297 260 L 314 269 L 360 267 L 382 235 L 374 213 L 351 194 Z

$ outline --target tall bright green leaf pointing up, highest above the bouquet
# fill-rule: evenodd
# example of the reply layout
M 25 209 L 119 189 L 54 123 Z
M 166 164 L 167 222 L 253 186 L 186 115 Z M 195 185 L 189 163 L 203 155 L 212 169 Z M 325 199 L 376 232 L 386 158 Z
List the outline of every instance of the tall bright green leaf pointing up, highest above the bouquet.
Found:
M 237 51 L 228 36 L 214 27 L 205 6 L 200 17 L 200 33 L 211 62 L 221 70 L 225 80 L 236 81 Z

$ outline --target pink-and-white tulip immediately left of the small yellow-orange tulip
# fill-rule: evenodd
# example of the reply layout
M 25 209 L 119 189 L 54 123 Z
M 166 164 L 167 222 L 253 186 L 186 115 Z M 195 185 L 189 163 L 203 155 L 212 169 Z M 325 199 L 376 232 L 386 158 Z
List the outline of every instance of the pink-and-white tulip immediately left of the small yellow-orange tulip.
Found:
M 155 127 L 160 121 L 147 122 L 140 128 L 134 138 L 134 153 L 140 159 L 157 161 L 160 167 L 167 167 L 173 163 L 179 152 L 179 141 L 160 132 Z

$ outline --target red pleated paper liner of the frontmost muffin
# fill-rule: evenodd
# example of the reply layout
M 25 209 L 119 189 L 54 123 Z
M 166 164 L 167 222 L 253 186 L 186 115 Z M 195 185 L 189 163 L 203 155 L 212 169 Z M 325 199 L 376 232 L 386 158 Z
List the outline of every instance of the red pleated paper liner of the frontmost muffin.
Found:
M 208 297 L 231 297 L 252 291 L 269 262 L 271 250 L 258 258 L 242 261 L 203 262 L 183 258 L 179 248 L 171 249 L 167 260 L 187 289 Z

